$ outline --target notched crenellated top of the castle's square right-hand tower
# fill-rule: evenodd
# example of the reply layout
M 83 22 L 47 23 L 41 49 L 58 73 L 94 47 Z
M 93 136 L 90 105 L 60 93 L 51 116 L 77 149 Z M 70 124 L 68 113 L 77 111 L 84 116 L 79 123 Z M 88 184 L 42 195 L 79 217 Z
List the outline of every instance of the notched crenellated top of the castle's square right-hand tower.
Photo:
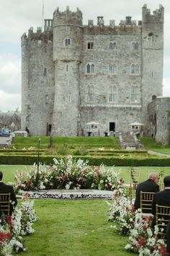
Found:
M 159 9 L 153 11 L 147 8 L 147 5 L 143 5 L 143 22 L 146 23 L 164 23 L 164 7 L 160 4 Z

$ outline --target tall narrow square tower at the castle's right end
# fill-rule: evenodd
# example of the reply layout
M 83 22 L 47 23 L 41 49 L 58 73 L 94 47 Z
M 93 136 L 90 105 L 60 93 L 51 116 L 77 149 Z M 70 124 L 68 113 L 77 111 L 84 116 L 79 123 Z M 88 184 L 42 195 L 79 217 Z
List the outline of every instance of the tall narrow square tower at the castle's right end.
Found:
M 143 120 L 147 123 L 148 103 L 162 95 L 163 49 L 164 49 L 164 7 L 151 14 L 146 4 L 143 6 L 142 20 L 142 64 L 143 64 Z

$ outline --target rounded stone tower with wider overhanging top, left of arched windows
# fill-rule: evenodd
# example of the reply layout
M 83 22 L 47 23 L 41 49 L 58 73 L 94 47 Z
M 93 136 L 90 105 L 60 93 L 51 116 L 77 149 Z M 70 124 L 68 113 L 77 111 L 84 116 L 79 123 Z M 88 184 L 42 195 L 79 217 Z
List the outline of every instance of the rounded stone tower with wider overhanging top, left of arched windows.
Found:
M 52 135 L 79 135 L 79 68 L 82 51 L 82 14 L 53 14 L 53 62 L 55 63 L 55 101 Z

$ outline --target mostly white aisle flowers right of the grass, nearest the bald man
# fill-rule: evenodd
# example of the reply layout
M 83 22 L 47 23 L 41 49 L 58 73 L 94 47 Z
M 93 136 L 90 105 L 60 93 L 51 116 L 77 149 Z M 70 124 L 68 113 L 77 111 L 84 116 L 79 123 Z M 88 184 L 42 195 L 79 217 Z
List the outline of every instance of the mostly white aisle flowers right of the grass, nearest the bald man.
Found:
M 125 195 L 117 193 L 112 204 L 109 205 L 109 221 L 115 222 L 114 228 L 118 234 L 129 234 L 134 228 L 135 210 L 130 202 L 130 199 Z

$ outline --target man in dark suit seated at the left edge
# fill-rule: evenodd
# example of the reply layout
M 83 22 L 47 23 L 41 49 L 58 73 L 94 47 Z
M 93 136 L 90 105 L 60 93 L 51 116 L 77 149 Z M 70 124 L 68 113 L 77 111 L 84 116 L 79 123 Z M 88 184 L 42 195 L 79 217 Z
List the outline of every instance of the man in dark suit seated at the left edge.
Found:
M 2 178 L 3 178 L 3 174 L 0 171 L 0 194 L 10 193 L 10 199 L 11 199 L 10 215 L 12 215 L 12 212 L 14 210 L 13 206 L 17 205 L 17 198 L 16 198 L 16 195 L 15 195 L 13 187 L 4 184 L 4 182 L 2 182 Z

